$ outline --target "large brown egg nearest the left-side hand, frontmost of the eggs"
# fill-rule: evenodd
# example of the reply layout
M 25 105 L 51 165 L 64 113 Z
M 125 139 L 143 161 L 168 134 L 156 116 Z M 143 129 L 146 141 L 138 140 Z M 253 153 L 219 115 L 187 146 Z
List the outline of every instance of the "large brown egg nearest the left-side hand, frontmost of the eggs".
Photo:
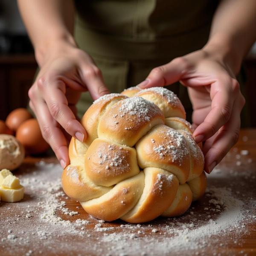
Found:
M 23 144 L 26 153 L 39 154 L 49 148 L 44 140 L 37 119 L 29 119 L 20 125 L 16 132 L 16 138 Z

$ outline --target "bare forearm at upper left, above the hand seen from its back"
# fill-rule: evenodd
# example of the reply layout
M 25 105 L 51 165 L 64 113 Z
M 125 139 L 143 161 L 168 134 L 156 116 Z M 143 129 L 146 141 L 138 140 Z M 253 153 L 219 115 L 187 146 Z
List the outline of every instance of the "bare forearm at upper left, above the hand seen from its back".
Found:
M 18 0 L 18 4 L 39 65 L 58 43 L 75 45 L 73 0 Z

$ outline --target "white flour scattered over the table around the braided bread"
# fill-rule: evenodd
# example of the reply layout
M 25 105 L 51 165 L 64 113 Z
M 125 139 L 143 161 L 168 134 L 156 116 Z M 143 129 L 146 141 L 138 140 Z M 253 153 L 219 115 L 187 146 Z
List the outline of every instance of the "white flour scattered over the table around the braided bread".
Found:
M 241 159 L 242 164 L 244 161 Z M 76 211 L 67 208 L 70 199 L 61 189 L 61 172 L 59 165 L 41 161 L 18 175 L 26 195 L 20 203 L 0 203 L 0 255 L 69 254 L 75 250 L 76 255 L 85 251 L 109 256 L 192 255 L 192 251 L 208 255 L 209 247 L 216 248 L 212 255 L 218 255 L 217 248 L 226 245 L 221 237 L 227 234 L 239 244 L 246 226 L 256 222 L 252 212 L 255 197 L 239 192 L 239 186 L 248 185 L 244 180 L 249 182 L 249 174 L 243 172 L 216 169 L 208 176 L 207 200 L 193 203 L 183 216 L 111 225 L 88 215 L 83 219 L 84 210 L 75 201 Z M 227 183 L 228 175 L 235 180 Z M 250 180 L 255 183 L 255 176 L 250 175 Z

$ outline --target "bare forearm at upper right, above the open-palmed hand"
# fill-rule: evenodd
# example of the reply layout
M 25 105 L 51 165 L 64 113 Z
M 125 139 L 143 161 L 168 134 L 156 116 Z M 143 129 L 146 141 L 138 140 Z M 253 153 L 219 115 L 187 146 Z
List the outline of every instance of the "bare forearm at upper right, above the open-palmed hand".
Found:
M 204 49 L 218 51 L 234 74 L 256 40 L 256 1 L 222 0 L 215 12 Z

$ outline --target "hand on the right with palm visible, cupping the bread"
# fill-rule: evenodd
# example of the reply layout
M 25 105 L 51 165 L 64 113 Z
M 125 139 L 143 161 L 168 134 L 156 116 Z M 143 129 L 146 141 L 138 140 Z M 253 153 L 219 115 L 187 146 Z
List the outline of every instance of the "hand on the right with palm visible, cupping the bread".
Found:
M 237 142 L 245 100 L 231 65 L 219 52 L 204 48 L 154 68 L 139 86 L 166 86 L 176 81 L 188 87 L 193 106 L 196 142 L 205 141 L 205 171 L 212 169 Z

